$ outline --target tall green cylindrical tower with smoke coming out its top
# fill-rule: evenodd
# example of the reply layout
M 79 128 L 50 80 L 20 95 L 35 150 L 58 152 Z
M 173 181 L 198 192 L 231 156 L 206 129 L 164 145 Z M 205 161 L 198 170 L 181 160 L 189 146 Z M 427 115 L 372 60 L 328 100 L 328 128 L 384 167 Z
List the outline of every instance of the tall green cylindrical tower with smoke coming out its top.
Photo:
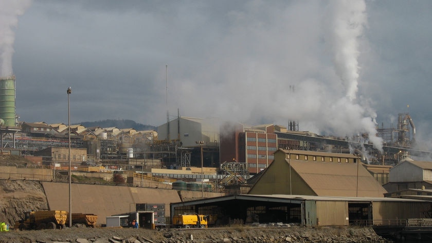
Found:
M 0 77 L 0 118 L 7 127 L 15 125 L 15 75 Z

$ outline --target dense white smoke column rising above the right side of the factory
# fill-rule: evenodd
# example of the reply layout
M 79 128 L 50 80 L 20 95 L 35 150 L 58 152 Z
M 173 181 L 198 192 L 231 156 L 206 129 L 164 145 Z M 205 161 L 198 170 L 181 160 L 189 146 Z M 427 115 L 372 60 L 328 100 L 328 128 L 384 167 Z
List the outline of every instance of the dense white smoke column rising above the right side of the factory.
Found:
M 330 1 L 330 16 L 333 16 L 329 27 L 331 34 L 329 42 L 333 51 L 335 72 L 342 81 L 346 97 L 343 99 L 346 106 L 356 106 L 357 85 L 359 77 L 358 39 L 362 37 L 364 27 L 367 25 L 366 4 L 363 0 Z M 382 152 L 382 138 L 376 136 L 376 114 L 366 107 L 361 111 L 361 127 L 368 133 L 369 142 Z

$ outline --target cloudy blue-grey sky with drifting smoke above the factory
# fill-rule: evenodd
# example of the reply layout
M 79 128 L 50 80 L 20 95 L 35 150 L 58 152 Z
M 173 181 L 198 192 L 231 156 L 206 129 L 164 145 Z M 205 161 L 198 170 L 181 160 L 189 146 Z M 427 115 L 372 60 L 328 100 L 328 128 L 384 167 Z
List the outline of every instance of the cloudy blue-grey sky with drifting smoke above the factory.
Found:
M 432 1 L 0 0 L 25 122 L 181 116 L 432 143 Z

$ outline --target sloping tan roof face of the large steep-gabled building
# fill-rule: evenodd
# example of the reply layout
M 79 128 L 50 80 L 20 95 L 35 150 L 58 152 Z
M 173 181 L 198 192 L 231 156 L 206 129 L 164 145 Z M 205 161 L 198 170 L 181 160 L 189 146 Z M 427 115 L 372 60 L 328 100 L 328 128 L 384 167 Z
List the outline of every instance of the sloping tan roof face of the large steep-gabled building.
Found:
M 291 167 L 318 196 L 384 197 L 387 193 L 360 164 L 291 160 Z

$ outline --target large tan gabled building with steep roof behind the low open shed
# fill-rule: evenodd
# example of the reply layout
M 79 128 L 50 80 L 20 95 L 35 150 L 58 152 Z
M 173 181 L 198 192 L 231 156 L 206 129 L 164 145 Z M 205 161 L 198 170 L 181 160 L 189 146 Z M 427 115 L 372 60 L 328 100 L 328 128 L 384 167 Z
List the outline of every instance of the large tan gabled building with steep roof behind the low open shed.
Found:
M 355 155 L 282 149 L 248 192 L 334 197 L 384 197 L 384 193 Z

